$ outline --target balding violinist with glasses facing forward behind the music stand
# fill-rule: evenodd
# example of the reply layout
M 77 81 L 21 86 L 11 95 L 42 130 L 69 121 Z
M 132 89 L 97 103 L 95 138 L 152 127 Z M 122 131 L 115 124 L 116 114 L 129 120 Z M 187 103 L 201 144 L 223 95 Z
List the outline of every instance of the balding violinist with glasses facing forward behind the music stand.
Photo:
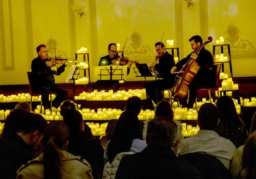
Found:
M 108 45 L 108 55 L 101 57 L 98 66 L 109 66 L 109 65 L 119 65 L 113 63 L 113 61 L 118 61 L 117 59 L 117 44 L 111 43 Z M 130 68 L 134 61 L 128 61 L 127 64 L 127 75 L 130 72 Z M 93 90 L 110 90 L 117 91 L 120 88 L 119 80 L 98 80 L 93 85 Z

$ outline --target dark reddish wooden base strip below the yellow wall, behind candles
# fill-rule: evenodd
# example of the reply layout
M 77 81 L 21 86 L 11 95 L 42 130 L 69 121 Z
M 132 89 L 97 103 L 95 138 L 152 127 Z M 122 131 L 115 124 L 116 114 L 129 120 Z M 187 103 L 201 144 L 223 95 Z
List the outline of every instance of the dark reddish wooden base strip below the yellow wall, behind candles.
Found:
M 252 96 L 256 96 L 256 77 L 236 77 L 236 78 L 233 78 L 233 81 L 234 83 L 237 83 L 239 85 L 239 92 L 241 97 L 250 98 Z M 148 82 L 150 81 L 147 81 L 147 83 Z M 91 83 L 90 86 L 92 86 L 93 84 L 94 83 Z M 68 90 L 69 99 L 73 98 L 73 83 L 58 83 L 58 85 Z M 143 89 L 144 85 L 145 85 L 145 81 L 126 81 L 126 85 L 121 84 L 120 90 Z M 79 95 L 83 91 L 89 92 L 89 85 L 76 85 L 75 95 Z M 6 96 L 11 94 L 23 93 L 23 92 L 24 93 L 29 92 L 28 84 L 0 85 L 0 94 L 4 94 Z M 207 96 L 208 96 L 208 91 L 205 91 L 205 90 L 198 91 L 198 98 L 204 98 Z

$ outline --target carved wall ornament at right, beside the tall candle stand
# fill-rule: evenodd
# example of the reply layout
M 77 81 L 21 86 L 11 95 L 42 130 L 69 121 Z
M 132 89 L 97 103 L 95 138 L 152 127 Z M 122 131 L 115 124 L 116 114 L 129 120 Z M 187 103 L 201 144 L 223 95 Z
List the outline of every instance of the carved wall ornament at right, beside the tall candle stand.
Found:
M 241 30 L 237 26 L 235 26 L 233 22 L 228 25 L 228 28 L 224 32 L 224 34 L 226 35 L 226 41 L 231 44 L 230 50 L 232 51 L 256 50 L 256 47 L 254 46 L 254 41 L 240 39 Z

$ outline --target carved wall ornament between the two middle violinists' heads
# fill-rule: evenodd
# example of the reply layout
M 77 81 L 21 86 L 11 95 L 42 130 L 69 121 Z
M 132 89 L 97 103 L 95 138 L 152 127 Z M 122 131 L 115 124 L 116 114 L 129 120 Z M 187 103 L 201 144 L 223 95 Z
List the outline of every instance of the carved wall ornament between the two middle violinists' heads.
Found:
M 124 52 L 125 56 L 128 57 L 148 57 L 155 55 L 153 48 L 143 45 L 143 36 L 136 30 L 129 35 Z

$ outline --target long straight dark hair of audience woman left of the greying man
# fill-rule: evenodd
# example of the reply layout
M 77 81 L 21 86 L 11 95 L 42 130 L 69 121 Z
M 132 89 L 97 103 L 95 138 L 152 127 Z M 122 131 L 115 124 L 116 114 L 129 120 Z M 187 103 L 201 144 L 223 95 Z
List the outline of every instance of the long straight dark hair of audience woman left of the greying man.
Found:
M 117 121 L 113 137 L 108 145 L 107 157 L 110 163 L 117 154 L 130 150 L 132 140 L 135 138 L 141 139 L 139 127 L 139 119 L 134 111 L 127 110 L 121 114 Z

